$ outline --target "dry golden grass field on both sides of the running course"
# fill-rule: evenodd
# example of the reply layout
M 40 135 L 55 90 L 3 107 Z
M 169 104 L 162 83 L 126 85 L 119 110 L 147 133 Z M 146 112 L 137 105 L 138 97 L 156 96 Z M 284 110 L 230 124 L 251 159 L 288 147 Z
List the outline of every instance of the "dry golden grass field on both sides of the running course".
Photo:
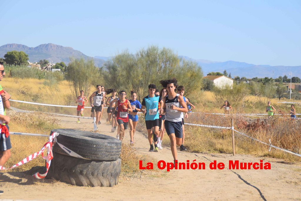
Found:
M 43 80 L 38 79 L 19 79 L 19 78 L 5 78 L 1 84 L 3 88 L 12 95 L 12 99 L 23 100 L 30 102 L 39 102 L 46 104 L 57 105 L 76 105 L 75 97 L 71 96 L 71 92 L 67 81 L 62 81 L 59 88 L 55 89 L 54 95 L 49 95 L 49 91 L 45 88 Z M 223 111 L 219 109 L 222 103 L 219 103 L 215 99 L 215 95 L 212 92 L 199 92 L 191 94 L 191 102 L 197 107 L 195 111 L 200 112 L 218 112 Z M 254 104 L 254 101 L 257 101 Z M 253 113 L 265 113 L 264 101 L 266 98 L 247 96 L 244 111 Z M 278 99 L 272 99 L 272 104 L 275 108 L 280 108 L 282 111 L 289 109 L 289 105 L 279 104 Z M 281 100 L 282 101 L 282 100 Z M 287 100 L 283 100 L 287 101 Z M 255 105 L 255 109 L 254 109 Z M 50 106 L 30 105 L 18 102 L 11 102 L 11 106 L 34 111 L 47 111 L 52 113 L 70 114 L 76 115 L 75 108 L 60 108 Z M 236 111 L 235 104 L 233 104 L 234 112 Z M 296 111 L 299 111 L 299 105 L 296 104 Z M 239 112 L 239 111 L 237 111 Z M 11 116 L 10 128 L 14 132 L 28 132 L 28 133 L 41 133 L 48 135 L 53 128 L 61 127 L 60 121 L 57 118 L 43 115 L 42 113 L 26 114 L 15 113 L 9 111 Z M 90 112 L 85 109 L 85 116 L 89 116 Z M 104 114 L 106 117 L 106 114 Z M 253 117 L 251 117 L 253 118 Z M 236 127 L 250 118 L 234 117 Z M 290 121 L 287 118 L 275 118 L 270 125 L 259 126 L 256 129 L 241 128 L 244 132 L 250 134 L 256 139 L 268 142 L 272 140 L 273 145 L 289 149 L 293 152 L 301 153 L 301 136 L 300 136 L 300 123 L 297 121 Z M 191 114 L 186 122 L 207 124 L 207 125 L 220 125 L 230 126 L 230 117 L 218 116 L 218 115 L 204 115 L 204 114 Z M 145 132 L 144 122 L 140 121 L 138 124 L 138 130 Z M 204 127 L 185 126 L 186 139 L 185 145 L 191 152 L 204 152 L 204 153 L 231 153 L 231 131 L 230 130 L 217 130 Z M 12 157 L 8 161 L 7 165 L 13 165 L 15 162 L 23 159 L 29 154 L 38 151 L 41 146 L 46 142 L 47 138 L 41 137 L 19 137 L 12 136 L 12 143 L 14 149 L 12 149 Z M 169 146 L 169 139 L 165 134 L 163 144 Z M 300 161 L 299 158 L 286 154 L 281 151 L 272 149 L 268 152 L 268 147 L 260 143 L 255 143 L 245 137 L 236 135 L 236 152 L 238 154 L 252 154 L 257 156 L 267 156 L 282 158 L 288 161 Z M 135 172 L 137 167 L 134 167 L 135 162 L 138 160 L 137 155 L 124 147 L 123 155 L 128 160 L 124 160 L 125 166 L 123 171 Z M 127 161 L 127 162 L 126 162 Z M 33 166 L 43 166 L 44 160 L 37 159 L 29 164 L 23 165 L 17 170 L 27 170 Z

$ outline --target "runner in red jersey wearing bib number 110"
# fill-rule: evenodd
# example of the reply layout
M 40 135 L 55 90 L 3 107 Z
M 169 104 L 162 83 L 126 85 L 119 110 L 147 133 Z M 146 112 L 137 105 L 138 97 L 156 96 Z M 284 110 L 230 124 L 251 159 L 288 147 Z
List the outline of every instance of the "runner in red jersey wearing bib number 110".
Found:
M 133 109 L 131 107 L 131 103 L 129 100 L 126 99 L 126 91 L 120 91 L 119 92 L 119 100 L 117 101 L 117 104 L 115 104 L 115 107 L 113 109 L 113 114 L 116 111 L 116 108 L 118 107 L 117 112 L 117 123 L 118 123 L 118 130 L 119 130 L 119 140 L 122 141 L 124 137 L 124 130 L 127 129 L 128 122 L 129 122 L 129 114 L 128 112 L 132 112 Z M 115 117 L 115 114 L 113 115 Z

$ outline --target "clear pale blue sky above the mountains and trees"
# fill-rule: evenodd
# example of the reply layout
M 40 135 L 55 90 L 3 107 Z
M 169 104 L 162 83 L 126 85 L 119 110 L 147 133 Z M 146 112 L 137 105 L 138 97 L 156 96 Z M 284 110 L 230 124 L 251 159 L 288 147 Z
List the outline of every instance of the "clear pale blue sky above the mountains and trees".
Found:
M 150 45 L 211 61 L 301 65 L 301 1 L 1 1 L 0 46 L 88 56 Z

